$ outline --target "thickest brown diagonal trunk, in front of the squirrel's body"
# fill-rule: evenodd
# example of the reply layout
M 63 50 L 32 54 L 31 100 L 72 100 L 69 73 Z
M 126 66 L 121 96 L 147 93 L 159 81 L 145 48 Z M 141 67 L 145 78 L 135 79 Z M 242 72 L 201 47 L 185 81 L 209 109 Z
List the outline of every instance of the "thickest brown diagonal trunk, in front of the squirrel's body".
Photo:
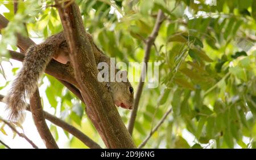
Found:
M 92 44 L 86 36 L 79 7 L 67 8 L 55 1 L 71 53 L 71 63 L 80 92 L 86 103 L 86 113 L 108 148 L 135 148 L 112 97 L 104 84 L 97 80 L 97 66 Z

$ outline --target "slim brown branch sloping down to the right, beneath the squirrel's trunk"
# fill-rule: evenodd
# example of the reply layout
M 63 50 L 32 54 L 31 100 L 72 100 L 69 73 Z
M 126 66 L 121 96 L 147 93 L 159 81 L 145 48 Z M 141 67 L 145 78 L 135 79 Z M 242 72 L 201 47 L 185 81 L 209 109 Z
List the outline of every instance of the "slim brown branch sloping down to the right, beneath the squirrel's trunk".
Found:
M 0 102 L 3 100 L 3 97 L 4 96 L 2 96 L 0 94 Z M 27 105 L 27 111 L 31 111 L 29 105 Z M 84 133 L 79 131 L 79 129 L 77 129 L 76 127 L 71 126 L 67 122 L 64 122 L 63 120 L 57 118 L 56 116 L 54 116 L 52 114 L 47 113 L 46 111 L 43 111 L 43 113 L 44 113 L 44 118 L 49 120 L 49 122 L 55 124 L 56 126 L 59 126 L 60 128 L 63 128 L 65 131 L 71 133 L 71 135 L 77 137 L 77 139 L 79 139 L 81 142 L 83 142 L 89 148 L 101 148 L 100 145 L 98 145 L 96 142 L 94 142 L 92 139 L 90 139 Z

